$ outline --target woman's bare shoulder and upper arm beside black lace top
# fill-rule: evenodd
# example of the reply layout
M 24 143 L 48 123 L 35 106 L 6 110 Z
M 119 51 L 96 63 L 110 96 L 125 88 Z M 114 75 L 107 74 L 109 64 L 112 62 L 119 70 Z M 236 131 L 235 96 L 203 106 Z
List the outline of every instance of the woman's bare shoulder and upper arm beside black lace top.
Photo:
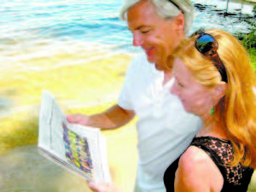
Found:
M 175 192 L 219 192 L 223 183 L 218 166 L 201 148 L 191 146 L 181 156 L 175 177 Z

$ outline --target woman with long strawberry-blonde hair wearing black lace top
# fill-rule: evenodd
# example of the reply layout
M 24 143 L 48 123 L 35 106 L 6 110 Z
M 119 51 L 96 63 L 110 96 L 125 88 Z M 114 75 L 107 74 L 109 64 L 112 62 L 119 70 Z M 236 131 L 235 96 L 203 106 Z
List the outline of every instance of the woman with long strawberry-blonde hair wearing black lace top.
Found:
M 228 32 L 201 31 L 184 40 L 168 63 L 172 94 L 204 125 L 166 169 L 166 191 L 246 192 L 256 167 L 256 79 L 246 50 Z M 90 186 L 118 191 L 106 183 Z

